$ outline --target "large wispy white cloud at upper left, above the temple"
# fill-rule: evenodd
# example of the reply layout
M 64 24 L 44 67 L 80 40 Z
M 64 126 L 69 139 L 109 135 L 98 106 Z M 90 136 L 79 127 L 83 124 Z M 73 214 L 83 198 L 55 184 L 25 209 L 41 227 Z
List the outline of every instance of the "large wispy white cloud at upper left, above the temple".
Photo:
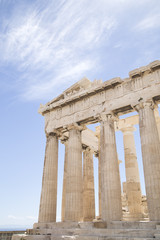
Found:
M 108 41 L 116 26 L 103 7 L 104 1 L 61 0 L 58 4 L 48 1 L 41 9 L 37 2 L 26 14 L 15 11 L 4 22 L 7 30 L 0 34 L 1 64 L 16 66 L 21 96 L 27 100 L 48 98 L 56 87 L 73 83 L 97 67 L 99 59 L 94 52 Z

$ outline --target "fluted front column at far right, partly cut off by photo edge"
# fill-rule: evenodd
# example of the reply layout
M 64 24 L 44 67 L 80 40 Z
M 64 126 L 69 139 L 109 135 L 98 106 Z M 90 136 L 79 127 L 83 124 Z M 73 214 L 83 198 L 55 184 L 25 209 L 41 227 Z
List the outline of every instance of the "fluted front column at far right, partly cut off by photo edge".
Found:
M 140 102 L 139 129 L 143 157 L 144 177 L 151 221 L 160 220 L 160 140 L 152 101 Z

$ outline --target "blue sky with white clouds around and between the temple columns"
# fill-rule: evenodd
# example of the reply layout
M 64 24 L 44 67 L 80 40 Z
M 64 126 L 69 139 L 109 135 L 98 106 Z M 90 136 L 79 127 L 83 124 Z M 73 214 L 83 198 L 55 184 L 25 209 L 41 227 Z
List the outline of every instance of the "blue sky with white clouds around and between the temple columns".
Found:
M 1 228 L 37 221 L 45 150 L 40 103 L 84 76 L 124 78 L 160 59 L 159 9 L 158 0 L 0 0 Z M 141 164 L 138 131 L 135 138 Z M 59 184 L 63 155 L 60 145 Z

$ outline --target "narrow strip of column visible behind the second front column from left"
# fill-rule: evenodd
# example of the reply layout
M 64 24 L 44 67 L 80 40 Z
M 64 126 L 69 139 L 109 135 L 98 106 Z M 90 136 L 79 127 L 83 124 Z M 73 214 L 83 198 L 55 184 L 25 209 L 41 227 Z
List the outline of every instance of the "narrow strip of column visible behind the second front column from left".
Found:
M 63 174 L 63 191 L 62 191 L 62 210 L 61 221 L 65 220 L 65 200 L 66 200 L 66 177 L 67 177 L 67 159 L 68 159 L 68 140 L 63 140 L 65 144 L 65 158 L 64 158 L 64 174 Z

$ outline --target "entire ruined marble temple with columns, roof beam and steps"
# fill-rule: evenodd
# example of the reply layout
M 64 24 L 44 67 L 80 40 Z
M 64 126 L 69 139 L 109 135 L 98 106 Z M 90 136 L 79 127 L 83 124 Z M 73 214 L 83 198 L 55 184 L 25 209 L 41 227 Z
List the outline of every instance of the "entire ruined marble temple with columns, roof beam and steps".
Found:
M 91 82 L 83 78 L 52 101 L 40 105 L 39 113 L 45 118 L 46 150 L 39 218 L 25 239 L 160 238 L 159 103 L 160 61 L 157 60 L 129 72 L 125 79 Z M 131 112 L 137 114 L 120 119 Z M 95 131 L 87 128 L 93 123 L 100 124 Z M 134 139 L 137 124 L 145 203 Z M 123 190 L 116 131 L 123 133 L 126 173 Z M 65 160 L 61 222 L 56 223 L 59 142 L 65 145 Z M 98 217 L 93 155 L 98 158 Z M 15 235 L 13 239 L 20 238 Z

